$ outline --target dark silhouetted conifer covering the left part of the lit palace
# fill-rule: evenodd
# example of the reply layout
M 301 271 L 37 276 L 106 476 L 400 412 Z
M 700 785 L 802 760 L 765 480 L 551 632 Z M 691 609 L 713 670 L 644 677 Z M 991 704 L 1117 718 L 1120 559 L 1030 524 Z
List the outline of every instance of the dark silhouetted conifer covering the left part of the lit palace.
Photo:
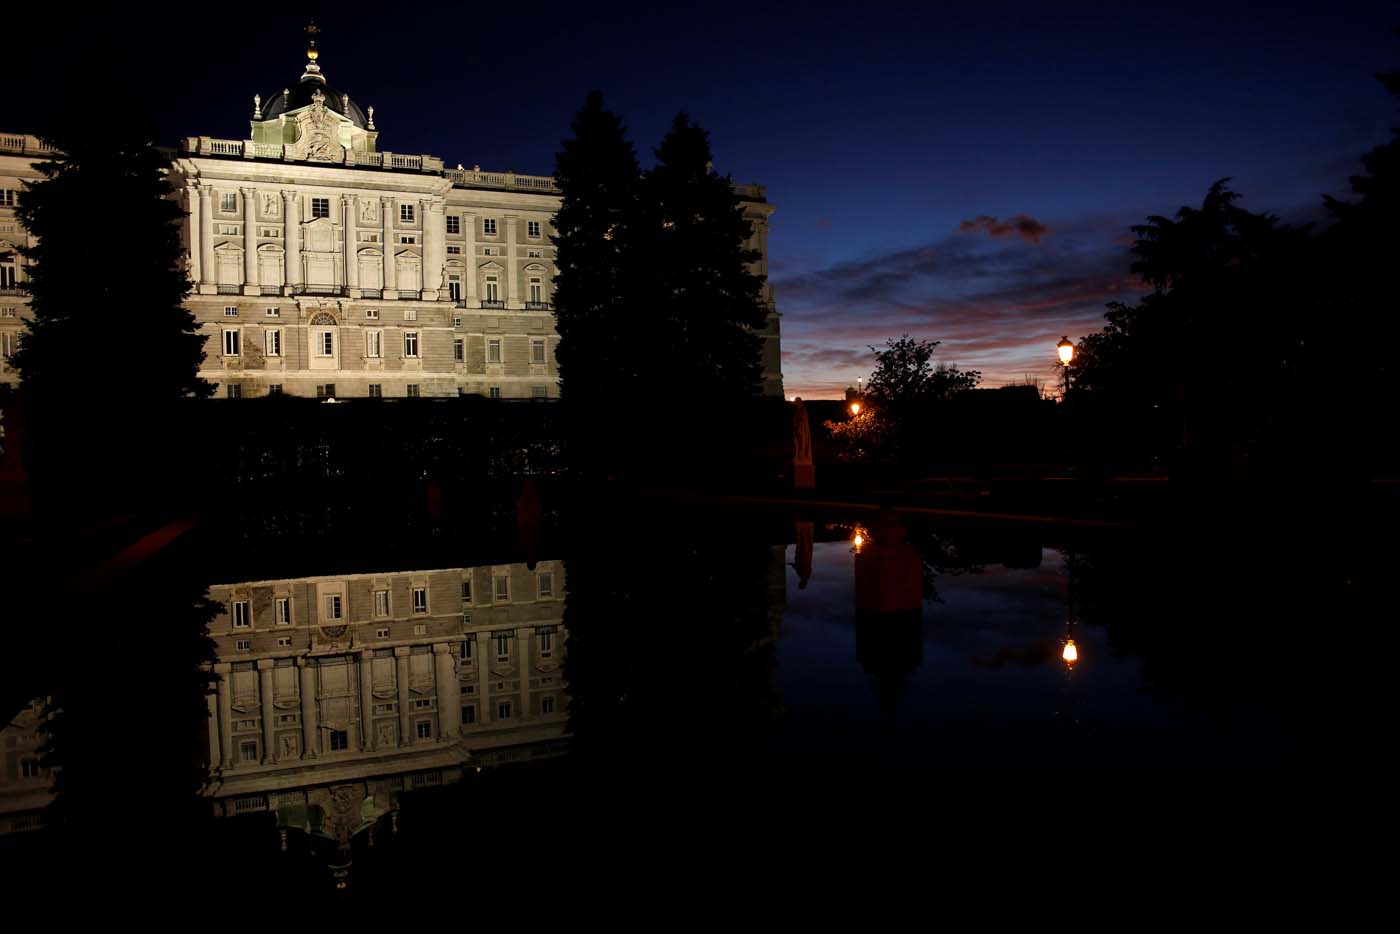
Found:
M 204 336 L 182 305 L 183 214 L 168 160 L 139 129 L 83 126 L 48 141 L 57 154 L 38 164 L 43 178 L 17 210 L 32 235 L 21 249 L 32 318 L 14 354 L 29 473 L 41 494 L 63 487 L 64 501 L 102 487 L 132 494 L 181 435 L 178 403 L 213 392 L 199 377 Z M 98 207 L 122 218 L 119 246 L 94 248 Z

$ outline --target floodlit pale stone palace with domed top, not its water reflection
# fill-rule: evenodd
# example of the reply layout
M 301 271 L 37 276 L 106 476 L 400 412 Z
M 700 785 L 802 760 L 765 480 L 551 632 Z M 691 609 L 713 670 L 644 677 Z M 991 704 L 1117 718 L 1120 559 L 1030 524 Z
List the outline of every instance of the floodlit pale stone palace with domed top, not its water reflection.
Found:
M 379 147 L 375 109 L 332 87 L 312 39 L 300 80 L 252 97 L 245 140 L 190 136 L 174 197 L 218 396 L 559 395 L 550 295 L 553 178 L 447 168 Z M 27 315 L 22 182 L 49 153 L 0 134 L 0 382 Z M 767 274 L 773 207 L 736 186 Z M 783 395 L 773 288 L 763 391 Z

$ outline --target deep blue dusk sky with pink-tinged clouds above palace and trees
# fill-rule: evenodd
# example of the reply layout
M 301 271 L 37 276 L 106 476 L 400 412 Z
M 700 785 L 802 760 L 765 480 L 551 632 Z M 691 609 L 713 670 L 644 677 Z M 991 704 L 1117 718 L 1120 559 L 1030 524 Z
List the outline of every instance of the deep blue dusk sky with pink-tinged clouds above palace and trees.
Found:
M 146 112 L 167 144 L 244 139 L 311 15 L 385 150 L 547 175 L 599 88 L 650 164 L 683 109 L 777 206 L 790 396 L 839 395 L 903 333 L 983 385 L 1053 381 L 1061 335 L 1144 291 L 1131 224 L 1222 176 L 1316 220 L 1400 123 L 1373 77 L 1400 67 L 1392 1 L 209 7 L 18 13 L 0 130 L 78 102 Z

